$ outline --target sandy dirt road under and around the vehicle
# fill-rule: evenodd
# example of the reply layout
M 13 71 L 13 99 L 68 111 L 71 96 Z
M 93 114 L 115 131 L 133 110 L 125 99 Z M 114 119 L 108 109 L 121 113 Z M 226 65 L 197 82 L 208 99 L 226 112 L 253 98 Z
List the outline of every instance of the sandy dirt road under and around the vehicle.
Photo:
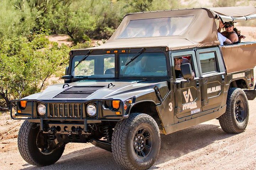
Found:
M 150 168 L 169 169 L 256 169 L 256 100 L 249 101 L 250 119 L 241 134 L 226 134 L 218 120 L 161 135 L 158 160 Z M 36 167 L 26 163 L 17 148 L 17 133 L 22 121 L 0 116 L 1 170 L 110 170 L 120 169 L 112 153 L 91 144 L 69 143 L 54 165 Z

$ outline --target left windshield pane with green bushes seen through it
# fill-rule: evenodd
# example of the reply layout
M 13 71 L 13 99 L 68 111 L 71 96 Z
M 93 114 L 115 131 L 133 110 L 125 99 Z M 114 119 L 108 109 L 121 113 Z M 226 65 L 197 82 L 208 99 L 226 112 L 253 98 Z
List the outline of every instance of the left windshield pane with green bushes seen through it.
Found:
M 83 57 L 84 55 L 73 57 L 72 75 L 74 78 L 114 78 L 114 54 L 89 55 L 74 69 Z

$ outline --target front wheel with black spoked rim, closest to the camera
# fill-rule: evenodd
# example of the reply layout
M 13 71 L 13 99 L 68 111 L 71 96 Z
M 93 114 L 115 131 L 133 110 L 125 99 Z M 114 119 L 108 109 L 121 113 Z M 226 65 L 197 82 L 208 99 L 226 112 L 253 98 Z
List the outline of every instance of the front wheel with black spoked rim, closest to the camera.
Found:
M 118 122 L 112 135 L 112 153 L 125 169 L 150 168 L 159 155 L 160 131 L 156 121 L 147 114 L 134 113 Z

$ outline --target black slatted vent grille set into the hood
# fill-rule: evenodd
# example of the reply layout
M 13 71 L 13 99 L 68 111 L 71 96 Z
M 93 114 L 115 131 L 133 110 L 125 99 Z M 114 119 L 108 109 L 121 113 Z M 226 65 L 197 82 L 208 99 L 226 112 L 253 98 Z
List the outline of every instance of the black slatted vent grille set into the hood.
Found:
M 74 86 L 53 98 L 86 98 L 102 87 L 105 86 Z

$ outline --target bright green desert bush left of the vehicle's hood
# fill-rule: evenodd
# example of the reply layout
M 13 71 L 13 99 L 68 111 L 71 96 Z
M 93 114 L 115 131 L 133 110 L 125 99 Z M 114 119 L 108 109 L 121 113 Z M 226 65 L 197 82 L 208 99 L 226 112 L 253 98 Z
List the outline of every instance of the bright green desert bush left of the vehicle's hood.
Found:
M 10 100 L 39 92 L 44 82 L 68 63 L 69 47 L 50 44 L 44 34 L 0 40 L 0 96 Z

